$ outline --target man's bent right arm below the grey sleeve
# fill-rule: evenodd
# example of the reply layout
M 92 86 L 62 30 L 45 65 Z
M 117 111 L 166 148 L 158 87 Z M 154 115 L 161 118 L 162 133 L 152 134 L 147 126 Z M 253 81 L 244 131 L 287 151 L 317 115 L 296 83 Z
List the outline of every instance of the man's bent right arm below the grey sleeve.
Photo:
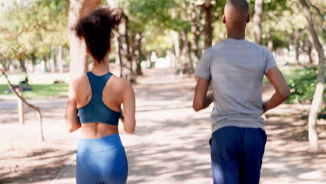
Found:
M 284 79 L 281 71 L 277 67 L 270 68 L 268 70 L 266 77 L 270 81 L 270 83 L 274 86 L 275 93 L 263 104 L 263 114 L 274 107 L 279 106 L 290 96 L 290 89 L 288 88 L 288 84 L 286 84 L 286 80 Z

